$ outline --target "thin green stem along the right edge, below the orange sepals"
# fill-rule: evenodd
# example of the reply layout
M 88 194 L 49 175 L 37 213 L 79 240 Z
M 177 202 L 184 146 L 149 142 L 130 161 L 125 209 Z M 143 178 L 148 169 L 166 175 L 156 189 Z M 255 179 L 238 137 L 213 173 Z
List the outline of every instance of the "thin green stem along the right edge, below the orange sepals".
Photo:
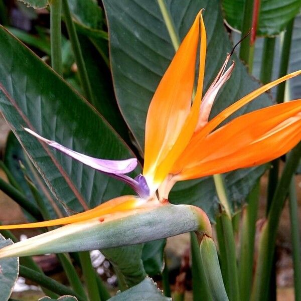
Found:
M 294 177 L 292 177 L 289 186 L 289 215 L 292 242 L 294 295 L 295 300 L 301 300 L 301 242 L 298 223 L 298 201 Z

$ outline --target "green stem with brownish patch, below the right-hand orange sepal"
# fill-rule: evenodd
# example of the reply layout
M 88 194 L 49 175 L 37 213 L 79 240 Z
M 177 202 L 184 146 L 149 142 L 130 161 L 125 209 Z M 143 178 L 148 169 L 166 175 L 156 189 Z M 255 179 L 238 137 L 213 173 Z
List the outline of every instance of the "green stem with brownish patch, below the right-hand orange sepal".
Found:
M 259 204 L 259 181 L 249 193 L 246 202 L 248 206 L 243 209 L 240 235 L 239 256 L 239 294 L 241 300 L 248 300 L 251 294 L 253 278 L 253 256 L 256 230 L 256 219 Z

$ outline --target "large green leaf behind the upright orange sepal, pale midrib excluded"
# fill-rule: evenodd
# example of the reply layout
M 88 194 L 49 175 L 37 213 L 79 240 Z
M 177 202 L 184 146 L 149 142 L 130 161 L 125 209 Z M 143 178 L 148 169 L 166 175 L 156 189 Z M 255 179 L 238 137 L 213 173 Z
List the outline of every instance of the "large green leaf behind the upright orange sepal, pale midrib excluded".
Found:
M 144 123 L 149 101 L 168 67 L 175 50 L 166 25 L 155 1 L 104 0 L 108 18 L 109 43 L 113 82 L 117 101 L 139 146 L 143 149 Z M 207 30 L 207 60 L 205 89 L 216 76 L 225 60 L 231 43 L 223 27 L 218 0 L 167 1 L 176 32 L 182 39 L 196 14 L 205 9 Z M 235 71 L 218 96 L 212 116 L 258 87 L 246 72 L 242 63 L 234 56 Z M 233 116 L 271 104 L 263 95 L 245 106 Z M 264 167 L 239 170 L 226 175 L 233 207 L 248 194 Z M 248 179 L 245 181 L 245 179 Z M 194 204 L 202 207 L 214 219 L 217 196 L 211 178 L 178 183 L 171 193 L 174 203 Z

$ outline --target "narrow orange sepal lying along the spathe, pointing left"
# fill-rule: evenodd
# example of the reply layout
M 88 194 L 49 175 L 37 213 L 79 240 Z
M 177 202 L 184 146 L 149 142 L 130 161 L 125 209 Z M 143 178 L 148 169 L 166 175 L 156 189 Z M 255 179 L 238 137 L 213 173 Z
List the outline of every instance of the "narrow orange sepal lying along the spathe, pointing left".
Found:
M 138 207 L 140 201 L 141 200 L 135 196 L 121 196 L 112 199 L 110 201 L 107 201 L 93 209 L 72 216 L 67 216 L 59 219 L 37 222 L 37 223 L 28 223 L 28 224 L 19 224 L 19 225 L 2 225 L 0 226 L 0 230 L 20 229 L 20 228 L 41 228 L 41 227 L 67 225 L 71 223 L 86 221 L 95 217 L 100 218 L 107 214 L 132 210 Z

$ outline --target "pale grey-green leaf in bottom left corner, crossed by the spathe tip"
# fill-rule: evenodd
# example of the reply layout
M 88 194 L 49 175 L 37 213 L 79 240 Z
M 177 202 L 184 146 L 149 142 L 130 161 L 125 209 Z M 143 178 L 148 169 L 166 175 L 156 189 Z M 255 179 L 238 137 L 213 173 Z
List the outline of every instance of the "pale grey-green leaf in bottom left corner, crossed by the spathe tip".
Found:
M 13 244 L 0 234 L 0 249 Z M 12 293 L 19 273 L 19 258 L 0 259 L 0 299 L 7 301 Z

